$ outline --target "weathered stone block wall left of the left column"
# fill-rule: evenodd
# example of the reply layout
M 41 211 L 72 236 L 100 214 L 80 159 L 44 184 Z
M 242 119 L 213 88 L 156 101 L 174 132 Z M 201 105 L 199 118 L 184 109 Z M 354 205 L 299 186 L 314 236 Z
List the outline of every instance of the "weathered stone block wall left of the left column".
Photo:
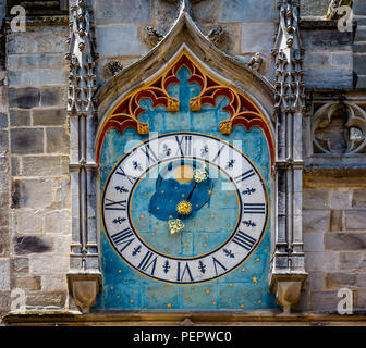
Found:
M 2 238 L 0 251 L 0 290 L 7 291 L 0 296 L 2 311 L 9 310 L 9 290 L 14 288 L 25 290 L 28 307 L 64 308 L 66 301 L 71 233 L 66 38 L 66 25 L 28 25 L 25 33 L 7 35 L 1 236 L 8 238 Z

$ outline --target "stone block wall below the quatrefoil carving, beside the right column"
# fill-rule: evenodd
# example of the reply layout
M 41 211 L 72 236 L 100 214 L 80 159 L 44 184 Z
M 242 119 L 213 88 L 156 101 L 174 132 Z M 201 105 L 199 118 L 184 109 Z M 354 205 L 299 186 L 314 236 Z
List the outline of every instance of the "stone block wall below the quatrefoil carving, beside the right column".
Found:
M 366 304 L 366 181 L 362 171 L 307 172 L 303 228 L 309 273 L 297 311 L 337 312 L 341 288 Z

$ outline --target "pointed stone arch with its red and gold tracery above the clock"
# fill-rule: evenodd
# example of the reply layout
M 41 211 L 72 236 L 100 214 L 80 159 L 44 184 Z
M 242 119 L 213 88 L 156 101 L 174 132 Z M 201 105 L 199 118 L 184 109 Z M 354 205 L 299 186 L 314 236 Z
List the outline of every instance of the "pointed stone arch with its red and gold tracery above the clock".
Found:
M 260 74 L 240 60 L 217 49 L 198 29 L 190 14 L 181 11 L 173 27 L 151 51 L 141 60 L 111 77 L 95 96 L 98 105 L 99 128 L 96 139 L 96 162 L 106 133 L 117 128 L 121 134 L 133 127 L 138 134 L 148 134 L 148 123 L 141 122 L 145 110 L 139 100 L 149 98 L 152 108 L 163 105 L 178 112 L 180 101 L 168 92 L 168 87 L 178 84 L 176 73 L 185 66 L 191 72 L 190 83 L 200 87 L 198 96 L 190 100 L 191 111 L 199 111 L 204 104 L 216 105 L 219 97 L 227 97 L 223 108 L 230 114 L 220 123 L 220 132 L 230 134 L 236 125 L 249 130 L 253 126 L 263 129 L 274 163 L 274 89 Z M 154 122 L 154 120 L 151 121 Z

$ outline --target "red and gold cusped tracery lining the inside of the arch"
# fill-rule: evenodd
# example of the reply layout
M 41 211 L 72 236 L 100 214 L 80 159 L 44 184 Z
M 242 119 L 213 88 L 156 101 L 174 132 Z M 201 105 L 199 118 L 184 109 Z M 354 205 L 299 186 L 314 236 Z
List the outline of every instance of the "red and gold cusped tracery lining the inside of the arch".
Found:
M 114 108 L 105 121 L 97 141 L 97 162 L 99 162 L 102 139 L 108 129 L 115 128 L 120 134 L 123 134 L 126 127 L 134 127 L 138 134 L 146 135 L 149 133 L 148 124 L 138 121 L 138 116 L 145 112 L 145 109 L 139 105 L 141 99 L 150 99 L 152 108 L 163 105 L 169 112 L 178 112 L 180 110 L 180 101 L 176 98 L 170 97 L 167 89 L 170 85 L 180 83 L 176 74 L 182 66 L 185 66 L 191 72 L 188 83 L 196 83 L 200 86 L 199 95 L 190 100 L 190 110 L 193 112 L 200 111 L 205 104 L 216 107 L 216 101 L 219 97 L 227 97 L 229 103 L 222 110 L 228 112 L 230 117 L 220 122 L 218 125 L 220 132 L 222 134 L 230 134 L 236 125 L 244 126 L 247 132 L 254 126 L 261 128 L 268 140 L 273 164 L 274 144 L 271 130 L 258 108 L 244 95 L 211 78 L 193 62 L 187 53 L 182 53 L 175 63 L 160 77 L 146 87 L 131 94 Z

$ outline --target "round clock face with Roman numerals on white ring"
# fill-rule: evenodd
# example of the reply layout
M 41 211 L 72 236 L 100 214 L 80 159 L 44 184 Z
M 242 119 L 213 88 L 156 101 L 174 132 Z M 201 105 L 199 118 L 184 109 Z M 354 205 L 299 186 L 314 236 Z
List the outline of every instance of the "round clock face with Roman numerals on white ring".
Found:
M 123 156 L 101 209 L 123 261 L 171 284 L 209 282 L 236 269 L 261 241 L 269 215 L 266 185 L 247 157 L 188 132 L 150 138 Z

